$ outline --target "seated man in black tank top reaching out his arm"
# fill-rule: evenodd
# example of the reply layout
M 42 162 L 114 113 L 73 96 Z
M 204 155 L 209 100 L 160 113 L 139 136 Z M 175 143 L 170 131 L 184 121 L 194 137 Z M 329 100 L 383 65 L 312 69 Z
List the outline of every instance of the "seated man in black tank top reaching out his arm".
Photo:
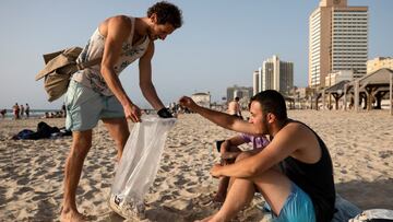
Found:
M 234 164 L 212 167 L 212 176 L 234 182 L 219 211 L 203 221 L 230 221 L 257 190 L 277 221 L 332 220 L 335 187 L 329 150 L 311 128 L 287 117 L 282 94 L 266 90 L 254 95 L 249 122 L 198 106 L 187 96 L 180 104 L 224 128 L 273 138 L 254 155 L 241 153 Z

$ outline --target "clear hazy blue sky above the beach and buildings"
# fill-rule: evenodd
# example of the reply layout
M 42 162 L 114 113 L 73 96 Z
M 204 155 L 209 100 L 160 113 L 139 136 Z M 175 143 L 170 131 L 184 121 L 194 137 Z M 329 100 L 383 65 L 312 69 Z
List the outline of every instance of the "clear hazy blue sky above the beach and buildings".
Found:
M 33 109 L 60 108 L 47 101 L 43 54 L 84 46 L 106 17 L 145 16 L 152 0 L 2 0 L 0 3 L 0 108 L 28 103 Z M 252 73 L 277 55 L 294 62 L 294 84 L 307 86 L 308 17 L 319 0 L 171 0 L 183 26 L 155 43 L 153 82 L 168 105 L 182 95 L 210 92 L 223 102 L 226 89 L 252 86 Z M 369 7 L 369 59 L 393 56 L 393 0 L 348 0 Z M 150 108 L 139 89 L 138 62 L 121 74 L 131 101 Z

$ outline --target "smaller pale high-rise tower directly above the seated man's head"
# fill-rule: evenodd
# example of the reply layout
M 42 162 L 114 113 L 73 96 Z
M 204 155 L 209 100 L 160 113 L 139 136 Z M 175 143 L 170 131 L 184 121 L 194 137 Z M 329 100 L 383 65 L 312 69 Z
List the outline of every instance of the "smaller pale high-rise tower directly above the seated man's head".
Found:
M 263 61 L 260 74 L 260 91 L 276 90 L 283 94 L 288 94 L 293 87 L 293 62 L 281 61 L 275 55 Z

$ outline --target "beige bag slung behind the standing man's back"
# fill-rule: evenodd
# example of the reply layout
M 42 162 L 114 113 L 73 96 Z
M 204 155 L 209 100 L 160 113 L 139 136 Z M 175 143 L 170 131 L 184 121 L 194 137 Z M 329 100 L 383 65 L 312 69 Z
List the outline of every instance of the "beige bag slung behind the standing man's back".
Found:
M 49 102 L 59 98 L 67 92 L 71 75 L 74 72 L 102 61 L 102 58 L 97 58 L 91 61 L 76 63 L 76 59 L 81 52 L 81 47 L 71 47 L 43 56 L 46 66 L 38 72 L 35 80 L 37 81 L 45 78 L 44 87 L 49 96 Z

